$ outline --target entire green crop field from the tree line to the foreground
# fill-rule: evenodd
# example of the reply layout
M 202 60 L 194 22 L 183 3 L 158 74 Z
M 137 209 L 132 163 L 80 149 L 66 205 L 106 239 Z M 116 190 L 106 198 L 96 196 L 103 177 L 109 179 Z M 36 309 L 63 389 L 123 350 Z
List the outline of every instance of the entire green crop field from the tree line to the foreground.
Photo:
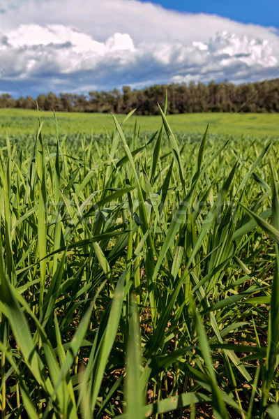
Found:
M 1 418 L 278 419 L 278 115 L 0 115 Z

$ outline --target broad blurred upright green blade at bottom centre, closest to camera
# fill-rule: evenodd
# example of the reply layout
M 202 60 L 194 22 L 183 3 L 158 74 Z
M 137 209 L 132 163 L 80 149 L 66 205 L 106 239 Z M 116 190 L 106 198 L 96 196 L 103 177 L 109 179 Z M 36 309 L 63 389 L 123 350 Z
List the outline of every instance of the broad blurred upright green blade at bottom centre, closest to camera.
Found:
M 144 399 L 140 386 L 140 367 L 142 366 L 142 351 L 140 337 L 140 321 L 132 295 L 130 307 L 129 337 L 127 351 L 127 376 L 125 385 L 126 415 L 129 419 L 144 419 Z

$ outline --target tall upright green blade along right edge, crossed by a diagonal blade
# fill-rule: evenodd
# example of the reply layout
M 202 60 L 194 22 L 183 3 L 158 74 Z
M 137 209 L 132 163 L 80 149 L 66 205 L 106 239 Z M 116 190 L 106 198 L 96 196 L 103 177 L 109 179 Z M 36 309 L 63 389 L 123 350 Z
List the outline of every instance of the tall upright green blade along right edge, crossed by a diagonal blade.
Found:
M 275 182 L 275 172 L 272 164 L 271 168 L 271 187 L 272 187 L 272 218 L 273 226 L 279 230 L 279 198 Z M 271 288 L 271 305 L 269 310 L 269 333 L 266 354 L 266 376 L 263 383 L 262 408 L 265 409 L 269 397 L 269 390 L 273 381 L 273 376 L 278 366 L 277 348 L 279 342 L 279 244 L 275 243 L 276 266 L 273 274 Z

